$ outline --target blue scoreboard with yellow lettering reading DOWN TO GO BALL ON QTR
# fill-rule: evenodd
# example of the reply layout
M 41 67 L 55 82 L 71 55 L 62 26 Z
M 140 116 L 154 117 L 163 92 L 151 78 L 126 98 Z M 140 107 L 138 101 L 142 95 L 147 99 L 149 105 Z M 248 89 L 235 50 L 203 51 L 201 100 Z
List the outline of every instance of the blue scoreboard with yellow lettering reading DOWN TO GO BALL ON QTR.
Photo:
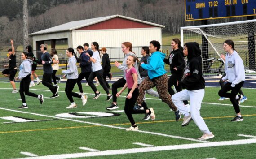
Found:
M 185 0 L 185 21 L 256 16 L 256 0 Z

